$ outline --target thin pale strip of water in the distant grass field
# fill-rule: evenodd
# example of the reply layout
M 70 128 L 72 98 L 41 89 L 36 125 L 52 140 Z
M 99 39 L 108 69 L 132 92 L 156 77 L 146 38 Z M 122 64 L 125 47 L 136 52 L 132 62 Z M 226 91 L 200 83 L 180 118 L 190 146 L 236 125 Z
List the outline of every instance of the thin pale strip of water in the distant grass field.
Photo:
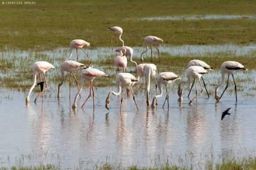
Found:
M 139 20 L 213 20 L 213 19 L 256 19 L 255 15 L 173 15 L 139 18 Z

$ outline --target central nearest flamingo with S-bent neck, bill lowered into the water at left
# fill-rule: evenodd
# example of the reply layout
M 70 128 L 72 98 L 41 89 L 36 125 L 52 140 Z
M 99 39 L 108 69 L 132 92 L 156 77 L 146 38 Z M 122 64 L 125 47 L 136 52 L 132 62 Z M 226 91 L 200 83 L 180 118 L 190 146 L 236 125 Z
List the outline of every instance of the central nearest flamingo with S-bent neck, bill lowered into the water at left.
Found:
M 109 110 L 109 102 L 110 102 L 110 94 L 113 94 L 114 96 L 119 96 L 121 91 L 121 105 L 120 105 L 120 111 L 121 111 L 121 106 L 122 106 L 122 102 L 123 102 L 123 88 L 122 86 L 129 86 L 130 90 L 131 90 L 131 86 L 133 86 L 136 82 L 137 82 L 137 78 L 133 76 L 133 74 L 130 73 L 119 73 L 117 74 L 116 78 L 115 78 L 115 82 L 117 83 L 117 87 L 118 87 L 118 92 L 114 92 L 114 91 L 110 91 L 109 94 L 107 95 L 106 98 L 106 109 Z M 133 94 L 133 90 L 131 90 L 131 94 Z M 135 101 L 135 97 L 133 94 L 133 100 L 135 102 L 135 105 L 138 109 L 137 103 Z

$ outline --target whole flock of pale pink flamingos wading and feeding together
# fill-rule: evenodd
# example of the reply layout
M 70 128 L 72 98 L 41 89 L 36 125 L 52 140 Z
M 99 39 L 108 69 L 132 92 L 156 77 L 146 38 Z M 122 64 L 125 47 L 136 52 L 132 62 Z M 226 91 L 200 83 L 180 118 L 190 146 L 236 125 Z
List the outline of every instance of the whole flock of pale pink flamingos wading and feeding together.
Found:
M 157 49 L 158 51 L 158 59 L 160 63 L 160 52 L 159 52 L 159 43 L 163 42 L 163 39 L 158 38 L 157 36 L 146 36 L 144 39 L 144 44 L 146 46 L 146 51 L 143 51 L 141 53 L 141 64 L 137 64 L 136 61 L 133 60 L 133 48 L 125 46 L 124 41 L 121 39 L 121 36 L 123 34 L 123 29 L 121 27 L 110 27 L 110 31 L 113 32 L 113 36 L 111 36 L 111 45 L 112 45 L 112 51 L 113 51 L 113 38 L 115 37 L 116 39 L 116 47 L 117 47 L 117 40 L 119 39 L 122 42 L 122 46 L 118 47 L 115 49 L 115 52 L 118 52 L 117 56 L 114 57 L 114 65 L 117 67 L 116 69 L 116 78 L 115 82 L 118 88 L 117 92 L 110 91 L 109 94 L 107 95 L 106 102 L 105 102 L 105 107 L 107 110 L 109 110 L 109 105 L 110 105 L 110 96 L 113 94 L 114 96 L 119 96 L 121 95 L 121 104 L 120 104 L 120 110 L 122 108 L 122 102 L 123 102 L 123 88 L 127 88 L 127 94 L 131 92 L 133 96 L 133 100 L 135 103 L 135 106 L 137 110 L 139 110 L 136 99 L 135 99 L 135 93 L 133 90 L 133 86 L 137 84 L 139 81 L 139 78 L 142 77 L 142 85 L 139 86 L 138 89 L 141 89 L 141 87 L 144 84 L 144 78 L 146 79 L 146 106 L 150 107 L 150 80 L 151 78 L 154 78 L 154 83 L 155 83 L 155 96 L 153 97 L 153 101 L 151 102 L 151 107 L 155 108 L 157 105 L 157 99 L 163 96 L 163 91 L 166 91 L 166 97 L 165 101 L 163 102 L 162 107 L 165 106 L 165 103 L 167 101 L 167 107 L 169 109 L 169 88 L 168 85 L 171 83 L 174 83 L 177 80 L 180 80 L 178 83 L 178 101 L 183 102 L 183 90 L 189 90 L 188 98 L 191 93 L 191 89 L 193 86 L 195 86 L 195 96 L 190 99 L 189 105 L 192 104 L 192 102 L 196 99 L 198 99 L 198 89 L 197 89 L 197 82 L 199 82 L 199 85 L 201 86 L 201 92 L 203 92 L 203 86 L 205 88 L 205 92 L 207 94 L 207 97 L 210 97 L 210 94 L 206 88 L 206 83 L 205 80 L 203 79 L 203 76 L 205 74 L 210 73 L 213 71 L 213 68 L 210 67 L 210 65 L 206 64 L 204 61 L 201 60 L 191 60 L 187 64 L 187 71 L 186 71 L 186 80 L 181 80 L 181 77 L 179 77 L 177 74 L 173 72 L 162 72 L 162 73 L 157 73 L 157 65 L 153 63 L 143 63 L 143 54 L 147 52 L 147 50 L 150 48 L 151 49 L 151 62 L 152 62 L 152 48 L 153 46 Z M 82 39 L 75 39 L 70 42 L 70 55 L 69 57 L 63 61 L 63 63 L 60 65 L 60 70 L 61 70 L 61 82 L 58 84 L 58 93 L 57 93 L 57 98 L 61 98 L 61 86 L 65 80 L 65 72 L 69 73 L 69 89 L 71 86 L 71 77 L 74 77 L 74 80 L 77 85 L 78 92 L 75 96 L 74 103 L 72 105 L 73 109 L 77 108 L 77 100 L 78 96 L 81 97 L 81 92 L 83 88 L 84 81 L 87 80 L 89 81 L 89 96 L 85 99 L 85 102 L 83 102 L 81 107 L 85 106 L 85 103 L 88 101 L 88 99 L 93 96 L 93 108 L 95 107 L 95 91 L 94 91 L 94 86 L 93 86 L 93 81 L 94 79 L 98 77 L 109 77 L 109 74 L 100 71 L 99 69 L 93 68 L 90 65 L 90 57 L 88 53 L 83 49 L 83 47 L 89 47 L 90 43 L 86 42 L 85 40 Z M 77 53 L 77 61 L 70 60 L 70 57 L 73 56 L 73 51 L 74 49 L 76 50 Z M 86 66 L 85 64 L 79 63 L 79 55 L 78 55 L 78 49 L 82 49 L 82 51 L 86 54 L 88 64 L 89 66 Z M 127 73 L 127 58 L 131 61 L 131 63 L 135 64 L 135 71 L 136 74 L 135 76 L 131 73 Z M 123 72 L 120 72 L 119 67 L 122 68 Z M 47 61 L 37 61 L 32 65 L 32 71 L 33 71 L 33 85 L 31 86 L 29 93 L 27 94 L 26 97 L 26 103 L 30 102 L 30 94 L 35 88 L 37 84 L 41 85 L 41 93 L 38 93 L 37 96 L 34 99 L 34 102 L 37 101 L 37 98 L 41 95 L 43 96 L 43 92 L 49 87 L 49 84 L 46 81 L 46 72 L 49 71 L 51 68 L 55 68 L 53 64 L 48 63 Z M 78 82 L 77 78 L 75 77 L 74 72 L 77 72 L 79 69 L 81 69 L 81 74 L 80 74 L 80 83 Z M 221 64 L 221 82 L 216 86 L 215 88 L 215 100 L 218 102 L 223 94 L 225 93 L 226 89 L 229 86 L 229 78 L 230 74 L 233 78 L 234 82 L 234 90 L 235 90 L 235 101 L 237 101 L 237 85 L 235 84 L 235 78 L 234 78 L 234 73 L 238 71 L 246 71 L 247 69 L 241 64 L 236 61 L 225 61 L 224 63 Z M 44 81 L 46 84 L 46 87 L 43 88 L 43 83 L 41 74 L 43 74 Z M 219 97 L 218 94 L 218 89 L 219 87 L 224 84 L 225 78 L 227 74 L 227 84 L 225 90 L 222 92 L 221 96 Z M 39 79 L 39 82 L 37 83 L 37 76 Z M 202 82 L 203 81 L 203 86 Z M 163 89 L 165 88 L 165 89 Z M 159 93 L 157 94 L 157 89 Z M 69 95 L 70 95 L 70 90 L 69 90 Z

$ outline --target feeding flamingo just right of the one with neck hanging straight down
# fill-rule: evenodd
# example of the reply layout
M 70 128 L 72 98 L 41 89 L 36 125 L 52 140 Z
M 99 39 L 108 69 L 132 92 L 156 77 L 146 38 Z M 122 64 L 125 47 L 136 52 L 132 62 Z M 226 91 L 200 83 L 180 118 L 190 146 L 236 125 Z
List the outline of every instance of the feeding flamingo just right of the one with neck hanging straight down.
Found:
M 167 103 L 168 103 L 168 109 L 169 109 L 169 92 L 167 90 L 168 88 L 168 85 L 171 83 L 171 82 L 174 82 L 176 80 L 180 79 L 179 76 L 177 76 L 175 73 L 173 72 L 163 72 L 163 73 L 159 73 L 157 75 L 157 86 L 158 86 L 158 89 L 160 91 L 160 94 L 159 95 L 156 95 L 154 98 L 153 98 L 153 101 L 152 101 L 152 104 L 151 104 L 151 107 L 152 108 L 155 108 L 155 103 L 156 103 L 156 100 L 157 98 L 159 97 L 162 97 L 163 96 L 163 90 L 162 90 L 162 85 L 165 85 L 165 89 L 166 89 L 166 97 L 165 97 L 165 102 L 166 102 L 166 99 L 167 99 Z M 163 102 L 163 106 L 165 106 L 165 102 Z M 162 106 L 162 107 L 163 107 Z

